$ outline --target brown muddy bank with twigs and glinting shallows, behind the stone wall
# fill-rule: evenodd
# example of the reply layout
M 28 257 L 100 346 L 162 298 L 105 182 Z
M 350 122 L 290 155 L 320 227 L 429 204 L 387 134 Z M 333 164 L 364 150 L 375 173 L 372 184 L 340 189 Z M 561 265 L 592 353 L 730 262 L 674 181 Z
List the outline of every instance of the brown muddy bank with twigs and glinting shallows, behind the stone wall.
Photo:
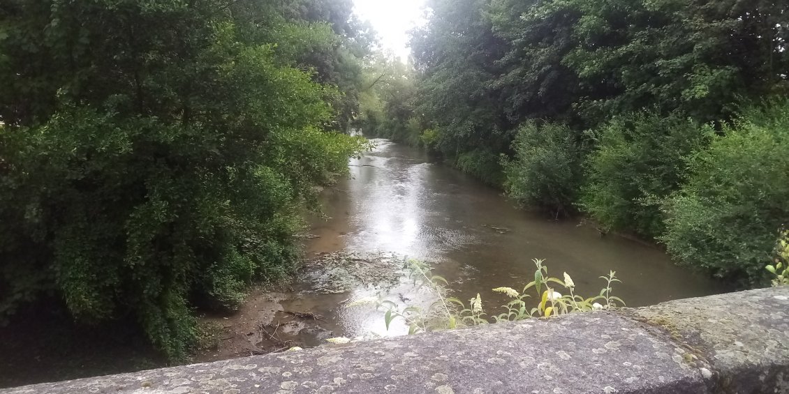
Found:
M 196 361 L 312 347 L 339 336 L 403 335 L 408 329 L 402 322 L 385 327 L 383 310 L 375 303 L 353 302 L 374 298 L 428 307 L 435 295 L 414 284 L 405 261 L 405 256 L 386 253 L 320 253 L 305 262 L 290 286 L 254 288 L 237 312 L 205 316 L 203 322 L 216 330 L 210 348 L 200 351 Z

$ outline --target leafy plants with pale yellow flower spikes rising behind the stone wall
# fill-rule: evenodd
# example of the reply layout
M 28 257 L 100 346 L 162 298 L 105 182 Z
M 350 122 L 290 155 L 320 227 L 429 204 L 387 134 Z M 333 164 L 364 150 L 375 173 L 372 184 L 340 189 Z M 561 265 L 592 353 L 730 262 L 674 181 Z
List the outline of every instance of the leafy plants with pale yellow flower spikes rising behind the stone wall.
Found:
M 615 272 L 611 271 L 606 277 L 600 277 L 606 281 L 606 286 L 600 290 L 598 296 L 584 298 L 575 294 L 575 284 L 570 275 L 564 273 L 564 278 L 548 276 L 548 267 L 544 266 L 544 260 L 533 260 L 537 269 L 534 271 L 534 281 L 525 284 L 522 292 L 514 288 L 494 288 L 494 292 L 501 292 L 509 296 L 512 300 L 503 305 L 505 310 L 502 314 L 493 316 L 493 322 L 514 322 L 528 318 L 559 316 L 589 310 L 610 309 L 624 306 L 624 302 L 619 297 L 613 296 L 612 284 L 619 282 Z M 479 293 L 469 299 L 469 305 L 463 303 L 455 297 L 447 297 L 447 280 L 438 275 L 434 275 L 427 264 L 417 260 L 407 262 L 411 275 L 419 288 L 428 288 L 438 298 L 427 310 L 420 307 L 398 307 L 398 304 L 388 300 L 378 301 L 378 307 L 383 307 L 386 312 L 383 320 L 389 329 L 389 325 L 396 318 L 401 318 L 409 326 L 409 334 L 436 331 L 441 329 L 456 329 L 471 325 L 485 325 L 491 321 L 486 318 L 482 307 L 482 298 Z M 556 290 L 561 286 L 565 295 Z M 527 303 L 529 289 L 534 289 L 537 296 L 537 305 L 529 307 Z M 598 302 L 600 301 L 600 302 Z M 368 299 L 357 300 L 349 306 L 367 303 Z

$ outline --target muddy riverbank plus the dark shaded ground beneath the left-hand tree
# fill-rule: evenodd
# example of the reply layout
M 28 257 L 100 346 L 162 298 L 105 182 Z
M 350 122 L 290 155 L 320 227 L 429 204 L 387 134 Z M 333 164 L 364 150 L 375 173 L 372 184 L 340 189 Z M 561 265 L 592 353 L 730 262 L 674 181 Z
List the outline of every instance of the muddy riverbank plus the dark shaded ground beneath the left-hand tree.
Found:
M 407 280 L 403 267 L 403 257 L 391 254 L 313 254 L 294 280 L 256 285 L 238 310 L 201 315 L 200 349 L 185 362 L 314 347 L 353 333 L 357 340 L 403 335 L 406 329 L 397 324 L 387 330 L 375 307 L 346 308 L 369 296 L 432 303 L 429 292 Z M 347 324 L 350 314 L 355 326 Z M 77 325 L 60 308 L 38 306 L 13 323 L 0 328 L 0 388 L 167 366 L 128 322 Z

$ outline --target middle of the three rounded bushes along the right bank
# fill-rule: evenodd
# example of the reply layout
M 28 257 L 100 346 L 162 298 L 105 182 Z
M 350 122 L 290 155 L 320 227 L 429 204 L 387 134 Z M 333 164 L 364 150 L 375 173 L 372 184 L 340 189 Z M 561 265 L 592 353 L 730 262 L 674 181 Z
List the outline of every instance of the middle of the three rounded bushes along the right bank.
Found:
M 679 188 L 686 158 L 706 147 L 712 131 L 676 115 L 635 113 L 616 117 L 596 135 L 581 209 L 605 229 L 659 236 L 660 201 Z

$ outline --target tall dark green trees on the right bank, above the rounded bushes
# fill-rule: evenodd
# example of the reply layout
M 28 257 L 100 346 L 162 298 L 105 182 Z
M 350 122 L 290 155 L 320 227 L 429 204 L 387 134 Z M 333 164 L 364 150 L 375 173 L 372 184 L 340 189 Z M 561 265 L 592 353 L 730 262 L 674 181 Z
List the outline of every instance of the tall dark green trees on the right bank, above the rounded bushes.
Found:
M 511 155 L 525 121 L 583 130 L 644 109 L 701 124 L 786 94 L 783 3 L 432 0 L 413 32 L 417 113 L 447 158 Z M 477 166 L 463 165 L 462 169 Z M 673 184 L 669 184 L 673 187 Z M 613 208 L 610 208 L 611 210 Z M 652 232 L 653 230 L 649 230 Z

